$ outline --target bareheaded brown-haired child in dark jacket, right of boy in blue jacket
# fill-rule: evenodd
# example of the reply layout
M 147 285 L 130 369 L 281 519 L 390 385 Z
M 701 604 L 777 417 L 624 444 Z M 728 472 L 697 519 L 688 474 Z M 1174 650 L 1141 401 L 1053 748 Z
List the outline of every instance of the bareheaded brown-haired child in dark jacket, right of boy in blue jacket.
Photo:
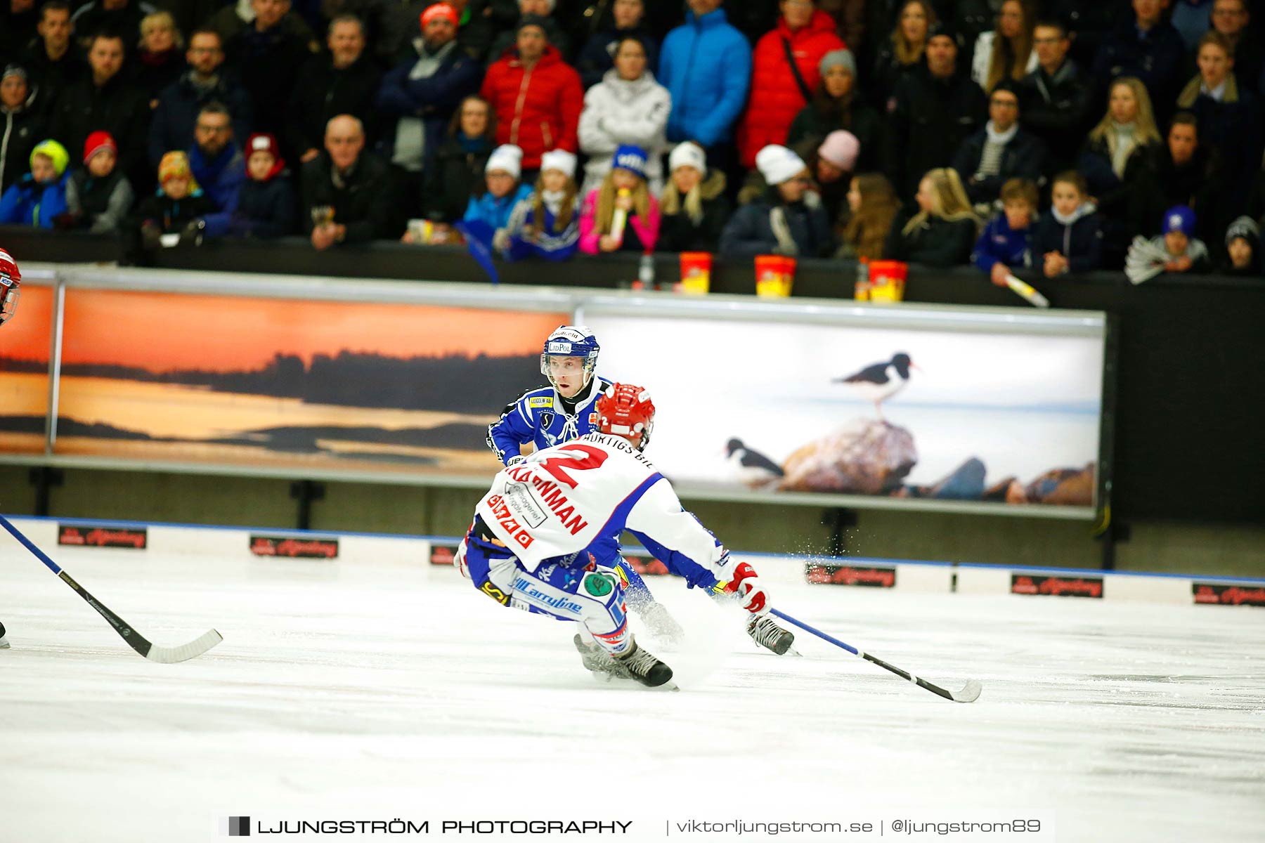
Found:
M 1050 212 L 1032 234 L 1032 254 L 1041 255 L 1045 277 L 1097 269 L 1103 233 L 1085 177 L 1074 169 L 1059 173 L 1050 185 Z

